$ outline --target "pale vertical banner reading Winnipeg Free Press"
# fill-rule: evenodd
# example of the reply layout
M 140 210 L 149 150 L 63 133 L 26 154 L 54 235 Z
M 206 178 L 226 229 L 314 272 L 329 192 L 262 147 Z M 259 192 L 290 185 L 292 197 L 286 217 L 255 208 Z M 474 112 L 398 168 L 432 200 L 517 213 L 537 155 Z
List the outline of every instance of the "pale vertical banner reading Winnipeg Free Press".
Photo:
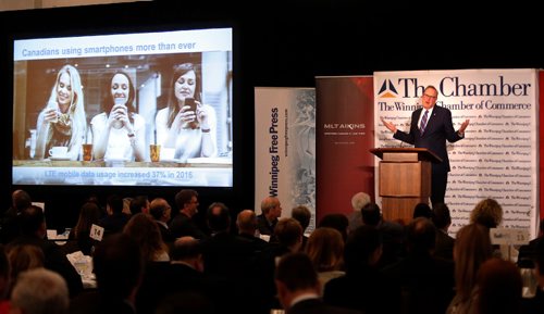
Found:
M 255 211 L 277 197 L 282 217 L 306 205 L 316 227 L 316 90 L 255 88 Z

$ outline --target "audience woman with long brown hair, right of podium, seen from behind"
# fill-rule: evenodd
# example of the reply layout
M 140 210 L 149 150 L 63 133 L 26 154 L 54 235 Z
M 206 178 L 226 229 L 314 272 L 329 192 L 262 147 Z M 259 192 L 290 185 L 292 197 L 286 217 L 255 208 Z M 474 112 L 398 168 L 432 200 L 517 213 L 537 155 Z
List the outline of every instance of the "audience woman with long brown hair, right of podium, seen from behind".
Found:
M 456 294 L 446 314 L 474 313 L 475 281 L 480 266 L 491 259 L 490 233 L 480 224 L 466 225 L 457 231 L 454 246 Z

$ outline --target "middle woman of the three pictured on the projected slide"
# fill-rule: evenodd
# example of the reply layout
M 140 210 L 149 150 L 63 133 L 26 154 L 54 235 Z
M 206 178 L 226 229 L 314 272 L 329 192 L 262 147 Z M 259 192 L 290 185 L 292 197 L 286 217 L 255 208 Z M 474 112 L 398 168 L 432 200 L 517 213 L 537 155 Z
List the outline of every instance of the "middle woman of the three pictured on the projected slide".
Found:
M 95 159 L 145 160 L 146 122 L 135 112 L 135 91 L 124 72 L 115 72 L 104 81 L 102 113 L 90 121 Z

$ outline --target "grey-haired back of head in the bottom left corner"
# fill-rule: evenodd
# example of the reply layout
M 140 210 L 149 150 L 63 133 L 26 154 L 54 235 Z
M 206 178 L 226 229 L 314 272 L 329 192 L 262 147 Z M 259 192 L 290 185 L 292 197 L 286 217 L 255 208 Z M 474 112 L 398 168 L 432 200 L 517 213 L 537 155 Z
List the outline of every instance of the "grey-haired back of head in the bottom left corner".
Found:
M 66 281 L 46 268 L 22 273 L 11 294 L 11 306 L 25 314 L 63 314 L 69 304 Z

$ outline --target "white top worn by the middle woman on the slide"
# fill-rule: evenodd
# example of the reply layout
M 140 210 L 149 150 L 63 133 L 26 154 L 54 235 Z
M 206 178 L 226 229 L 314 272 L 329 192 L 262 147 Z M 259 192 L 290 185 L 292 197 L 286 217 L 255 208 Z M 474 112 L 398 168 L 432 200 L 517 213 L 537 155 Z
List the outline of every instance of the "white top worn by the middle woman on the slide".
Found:
M 141 115 L 133 113 L 132 117 L 133 129 L 135 134 L 139 134 L 139 130 L 145 130 L 146 121 Z M 99 113 L 92 117 L 90 125 L 92 126 L 92 138 L 99 139 L 102 131 L 106 129 L 108 122 L 108 116 L 104 112 Z M 134 161 L 133 147 L 131 146 L 131 140 L 125 128 L 111 128 L 110 137 L 108 139 L 108 147 L 106 149 L 104 160 L 119 160 L 123 159 L 126 161 Z

